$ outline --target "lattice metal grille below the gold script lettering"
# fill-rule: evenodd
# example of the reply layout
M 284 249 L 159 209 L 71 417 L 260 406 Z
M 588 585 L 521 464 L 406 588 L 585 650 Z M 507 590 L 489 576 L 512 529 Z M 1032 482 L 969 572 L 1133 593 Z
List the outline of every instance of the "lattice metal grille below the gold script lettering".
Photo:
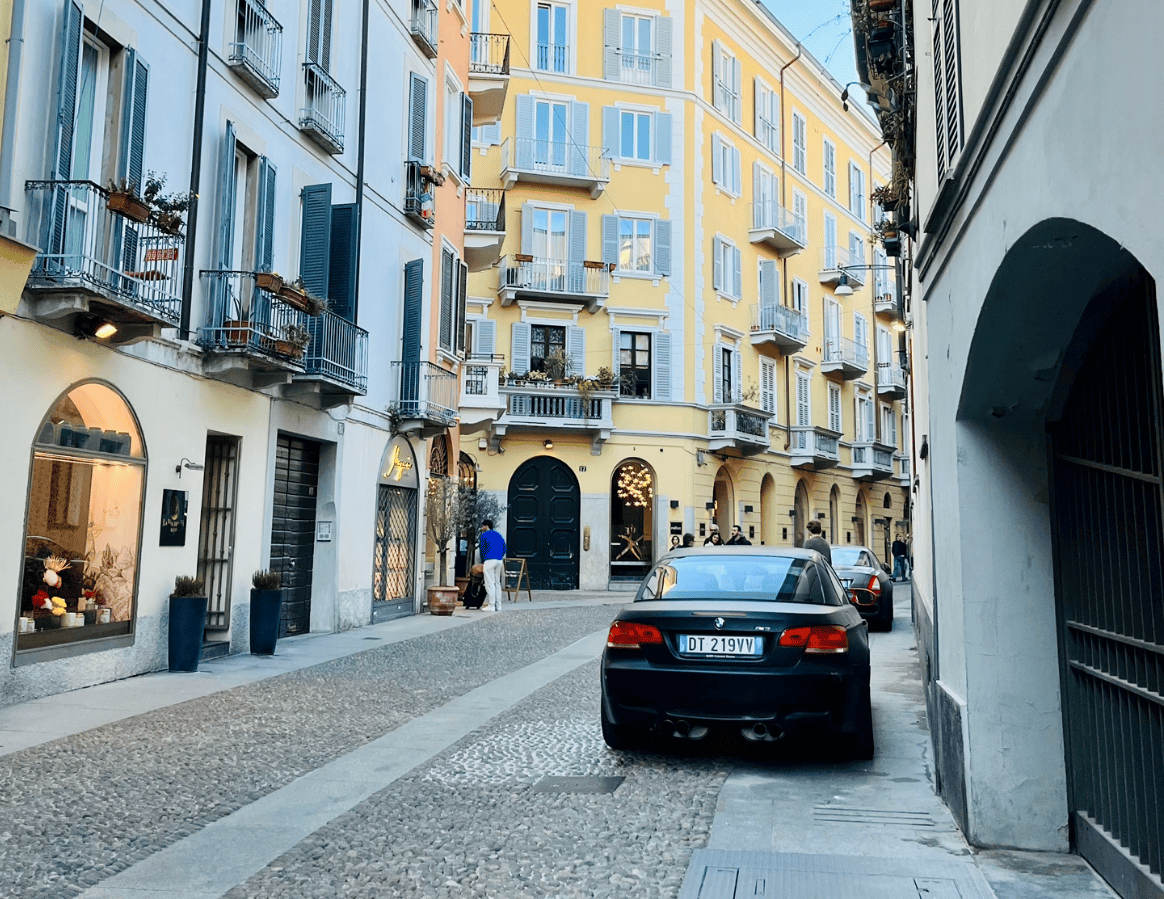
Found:
M 372 620 L 411 615 L 416 604 L 417 491 L 379 486 L 372 551 Z

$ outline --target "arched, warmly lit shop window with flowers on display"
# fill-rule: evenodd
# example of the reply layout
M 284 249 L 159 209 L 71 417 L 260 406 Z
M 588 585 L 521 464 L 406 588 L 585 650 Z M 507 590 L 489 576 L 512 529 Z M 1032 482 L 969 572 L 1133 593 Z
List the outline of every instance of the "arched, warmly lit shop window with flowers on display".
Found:
M 17 650 L 129 633 L 146 455 L 113 389 L 63 395 L 33 447 Z

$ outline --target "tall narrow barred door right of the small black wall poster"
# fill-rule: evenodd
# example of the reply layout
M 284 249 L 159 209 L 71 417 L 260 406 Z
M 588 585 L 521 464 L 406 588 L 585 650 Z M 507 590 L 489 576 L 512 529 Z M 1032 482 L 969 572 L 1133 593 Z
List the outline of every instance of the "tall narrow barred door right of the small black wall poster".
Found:
M 237 438 L 207 438 L 203 517 L 198 530 L 198 576 L 206 582 L 206 595 L 210 597 L 207 630 L 227 630 L 230 627 L 230 554 L 234 548 L 237 475 Z

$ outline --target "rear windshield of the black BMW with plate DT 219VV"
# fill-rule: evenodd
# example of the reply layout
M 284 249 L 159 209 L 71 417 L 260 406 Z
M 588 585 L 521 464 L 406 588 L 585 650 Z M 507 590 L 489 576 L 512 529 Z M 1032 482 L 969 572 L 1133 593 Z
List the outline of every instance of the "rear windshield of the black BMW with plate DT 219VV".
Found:
M 646 576 L 641 600 L 762 600 L 835 606 L 840 599 L 822 583 L 808 559 L 779 555 L 691 555 L 660 562 Z

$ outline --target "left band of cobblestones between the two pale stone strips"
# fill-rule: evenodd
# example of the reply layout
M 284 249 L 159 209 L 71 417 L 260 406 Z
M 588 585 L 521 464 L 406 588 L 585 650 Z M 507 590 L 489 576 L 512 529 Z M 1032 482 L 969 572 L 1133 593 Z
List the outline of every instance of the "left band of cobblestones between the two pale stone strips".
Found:
M 487 615 L 2 757 L 0 897 L 76 896 L 613 613 Z

